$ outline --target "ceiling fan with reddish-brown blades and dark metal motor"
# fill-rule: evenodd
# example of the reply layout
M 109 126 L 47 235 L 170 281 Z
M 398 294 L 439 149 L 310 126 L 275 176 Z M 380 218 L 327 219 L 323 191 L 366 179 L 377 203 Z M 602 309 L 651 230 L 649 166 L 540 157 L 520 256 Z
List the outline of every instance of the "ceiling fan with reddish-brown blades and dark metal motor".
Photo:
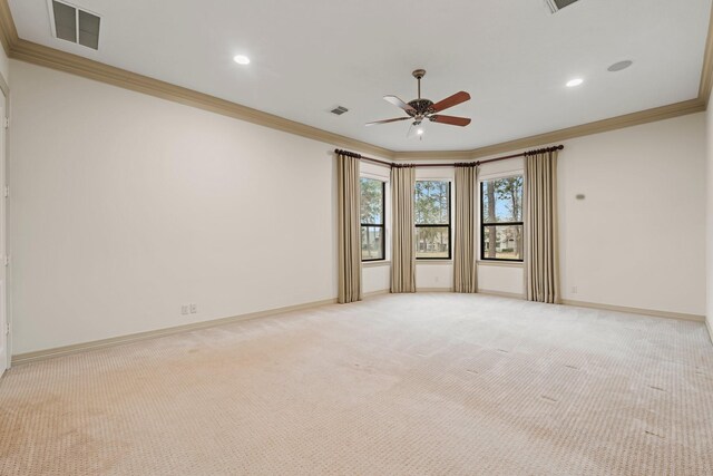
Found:
M 460 126 L 460 127 L 465 127 L 468 124 L 470 124 L 470 118 L 468 117 L 443 116 L 442 114 L 437 114 L 437 113 L 440 113 L 441 110 L 448 109 L 449 107 L 453 107 L 456 105 L 459 105 L 461 103 L 469 100 L 470 95 L 468 93 L 459 91 L 452 96 L 447 97 L 443 100 L 433 103 L 430 99 L 421 98 L 421 78 L 426 76 L 426 69 L 417 69 L 416 71 L 412 72 L 412 75 L 418 80 L 418 84 L 419 84 L 418 99 L 413 99 L 409 103 L 404 103 L 395 96 L 383 97 L 389 103 L 403 109 L 406 114 L 408 114 L 408 116 L 395 117 L 393 119 L 375 120 L 373 123 L 367 123 L 367 126 L 373 126 L 374 124 L 388 124 L 388 123 L 395 123 L 399 120 L 413 119 L 413 123 L 411 124 L 411 128 L 409 129 L 409 136 L 411 136 L 414 127 L 418 135 L 423 134 L 423 128 L 419 127 L 421 126 L 421 123 L 423 122 L 423 119 L 428 119 L 431 123 L 448 124 L 450 126 Z

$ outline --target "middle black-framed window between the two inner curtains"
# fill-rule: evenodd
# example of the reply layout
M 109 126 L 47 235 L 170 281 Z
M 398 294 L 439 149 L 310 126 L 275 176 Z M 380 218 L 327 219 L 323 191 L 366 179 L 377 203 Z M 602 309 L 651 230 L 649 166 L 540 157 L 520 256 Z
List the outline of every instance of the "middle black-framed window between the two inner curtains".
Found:
M 450 260 L 450 182 L 416 183 L 416 258 Z

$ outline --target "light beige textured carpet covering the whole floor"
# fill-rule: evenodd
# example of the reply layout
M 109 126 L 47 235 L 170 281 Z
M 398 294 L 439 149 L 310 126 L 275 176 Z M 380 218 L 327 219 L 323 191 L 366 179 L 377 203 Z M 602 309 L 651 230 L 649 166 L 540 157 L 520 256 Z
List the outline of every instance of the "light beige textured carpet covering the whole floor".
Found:
M 703 324 L 385 295 L 18 366 L 2 475 L 713 475 Z

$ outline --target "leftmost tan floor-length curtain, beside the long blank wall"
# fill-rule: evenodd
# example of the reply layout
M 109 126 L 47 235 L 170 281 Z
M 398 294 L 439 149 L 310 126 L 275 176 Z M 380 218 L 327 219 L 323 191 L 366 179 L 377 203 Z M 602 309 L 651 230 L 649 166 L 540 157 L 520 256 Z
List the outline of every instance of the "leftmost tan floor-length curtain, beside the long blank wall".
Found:
M 340 303 L 361 300 L 359 158 L 336 155 Z

